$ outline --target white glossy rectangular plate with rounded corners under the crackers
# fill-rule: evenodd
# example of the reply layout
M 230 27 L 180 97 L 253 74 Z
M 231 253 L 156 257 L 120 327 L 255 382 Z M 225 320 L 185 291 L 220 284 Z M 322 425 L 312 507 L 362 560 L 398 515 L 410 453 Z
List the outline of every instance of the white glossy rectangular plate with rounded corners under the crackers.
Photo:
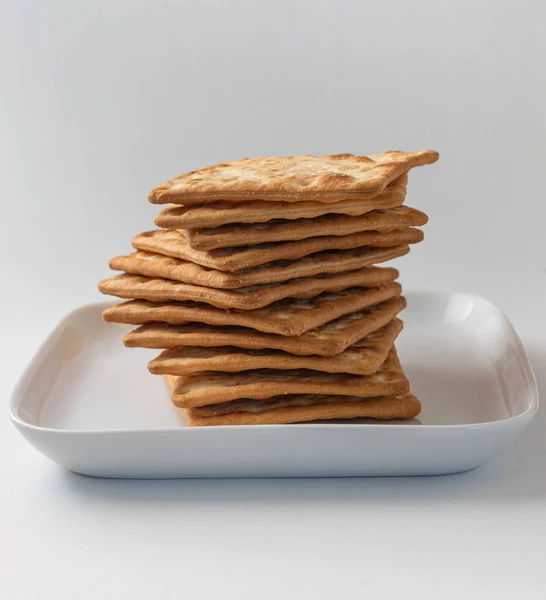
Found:
M 406 294 L 397 347 L 423 412 L 410 422 L 188 428 L 157 350 L 128 349 L 109 304 L 78 308 L 46 339 L 10 407 L 19 431 L 67 469 L 101 477 L 432 475 L 472 469 L 512 443 L 538 408 L 514 329 L 470 294 Z

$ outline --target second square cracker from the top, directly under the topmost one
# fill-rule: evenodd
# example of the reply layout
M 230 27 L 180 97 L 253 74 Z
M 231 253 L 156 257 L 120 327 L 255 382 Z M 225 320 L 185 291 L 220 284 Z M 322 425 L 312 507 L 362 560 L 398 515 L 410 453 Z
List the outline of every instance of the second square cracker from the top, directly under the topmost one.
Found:
M 203 205 L 181 206 L 172 204 L 164 208 L 154 219 L 158 227 L 168 229 L 191 229 L 196 227 L 220 227 L 227 223 L 265 223 L 272 219 L 312 219 L 325 214 L 363 215 L 372 210 L 394 208 L 406 198 L 407 174 L 395 179 L 384 192 L 366 202 L 350 198 L 340 202 L 209 202 Z

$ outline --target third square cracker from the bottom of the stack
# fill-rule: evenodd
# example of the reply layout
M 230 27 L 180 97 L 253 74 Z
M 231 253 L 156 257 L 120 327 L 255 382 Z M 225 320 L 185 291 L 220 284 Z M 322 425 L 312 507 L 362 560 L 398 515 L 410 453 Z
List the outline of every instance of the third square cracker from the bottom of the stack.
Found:
M 255 369 L 311 369 L 323 373 L 371 375 L 385 362 L 401 330 L 402 321 L 393 319 L 335 356 L 295 356 L 269 348 L 183 346 L 163 351 L 150 361 L 148 369 L 154 375 L 191 375 L 200 371 L 235 373 Z

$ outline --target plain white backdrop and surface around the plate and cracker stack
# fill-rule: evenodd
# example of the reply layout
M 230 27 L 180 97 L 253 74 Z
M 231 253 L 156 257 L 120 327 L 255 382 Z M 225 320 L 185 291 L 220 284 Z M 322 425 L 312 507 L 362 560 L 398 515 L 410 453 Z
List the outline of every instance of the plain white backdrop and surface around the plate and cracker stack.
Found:
M 0 2 L 1 389 L 148 189 L 264 154 L 433 148 L 408 287 L 488 296 L 546 368 L 546 4 Z M 411 480 L 122 482 L 0 421 L 0 597 L 544 598 L 546 419 L 489 466 Z

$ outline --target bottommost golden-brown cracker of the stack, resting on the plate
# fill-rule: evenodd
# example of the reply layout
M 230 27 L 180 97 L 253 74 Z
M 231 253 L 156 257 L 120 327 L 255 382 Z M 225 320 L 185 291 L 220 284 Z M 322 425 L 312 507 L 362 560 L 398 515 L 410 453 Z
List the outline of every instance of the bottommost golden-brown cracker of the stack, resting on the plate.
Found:
M 382 421 L 412 419 L 421 412 L 421 403 L 413 394 L 375 398 L 307 394 L 275 396 L 265 400 L 235 400 L 181 410 L 190 427 L 281 425 L 362 417 Z

